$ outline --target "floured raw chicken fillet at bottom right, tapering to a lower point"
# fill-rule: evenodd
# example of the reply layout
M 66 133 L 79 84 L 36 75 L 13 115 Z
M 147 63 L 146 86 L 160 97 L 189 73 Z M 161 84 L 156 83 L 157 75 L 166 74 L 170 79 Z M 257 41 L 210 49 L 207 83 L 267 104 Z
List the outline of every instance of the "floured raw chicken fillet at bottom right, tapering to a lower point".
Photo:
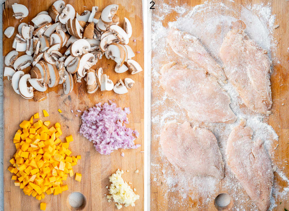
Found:
M 259 138 L 252 140 L 253 131 L 242 120 L 229 135 L 227 163 L 249 197 L 260 210 L 268 210 L 273 186 L 271 160 Z

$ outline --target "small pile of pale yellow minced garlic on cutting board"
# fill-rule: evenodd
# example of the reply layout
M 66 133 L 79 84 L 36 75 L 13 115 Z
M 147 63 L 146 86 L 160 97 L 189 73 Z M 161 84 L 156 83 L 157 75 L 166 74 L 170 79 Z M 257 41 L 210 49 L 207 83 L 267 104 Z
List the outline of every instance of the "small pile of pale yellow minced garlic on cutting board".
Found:
M 139 195 L 135 194 L 131 187 L 123 180 L 121 175 L 123 174 L 123 170 L 117 170 L 116 173 L 112 174 L 109 177 L 110 182 L 112 183 L 108 189 L 108 193 L 106 198 L 108 202 L 111 202 L 113 199 L 116 202 L 117 209 L 121 209 L 124 204 L 125 207 L 131 205 L 135 206 L 135 201 L 140 198 Z

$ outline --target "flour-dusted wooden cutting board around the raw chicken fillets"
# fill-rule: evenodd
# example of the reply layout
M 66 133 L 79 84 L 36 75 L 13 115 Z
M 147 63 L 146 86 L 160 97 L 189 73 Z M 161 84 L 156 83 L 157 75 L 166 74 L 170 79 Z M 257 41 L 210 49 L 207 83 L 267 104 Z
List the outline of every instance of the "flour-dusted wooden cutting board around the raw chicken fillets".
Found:
M 222 44 L 223 38 L 221 33 L 217 33 L 218 30 L 222 29 L 223 24 L 227 24 L 227 16 L 234 16 L 236 20 L 242 16 L 243 19 L 247 19 L 247 27 L 249 31 L 253 31 L 255 19 L 250 19 L 251 16 L 244 16 L 245 12 L 238 13 L 236 10 L 240 9 L 241 6 L 246 8 L 257 8 L 260 13 L 257 15 L 267 16 L 268 13 L 276 14 L 275 22 L 271 23 L 275 26 L 273 27 L 272 38 L 274 44 L 269 46 L 269 52 L 272 54 L 273 60 L 273 73 L 271 74 L 271 89 L 272 89 L 272 114 L 269 116 L 255 115 L 252 112 L 249 112 L 244 105 L 240 105 L 240 111 L 238 111 L 238 120 L 240 121 L 240 113 L 244 113 L 244 117 L 248 118 L 251 122 L 250 126 L 254 125 L 254 120 L 256 120 L 256 126 L 253 127 L 255 134 L 262 135 L 261 138 L 266 139 L 265 144 L 270 145 L 269 154 L 272 156 L 271 160 L 276 166 L 277 171 L 274 173 L 274 190 L 273 190 L 273 207 L 271 210 L 284 210 L 284 208 L 289 208 L 288 203 L 288 193 L 286 188 L 288 187 L 288 109 L 289 101 L 287 99 L 288 95 L 288 40 L 289 40 L 289 31 L 288 31 L 288 16 L 289 16 L 289 2 L 288 1 L 207 1 L 211 4 L 212 2 L 218 3 L 220 7 L 225 8 L 222 15 L 223 19 L 220 20 L 218 17 L 212 17 L 214 10 L 219 12 L 219 8 L 212 6 L 210 8 L 210 17 L 212 17 L 212 23 L 215 21 L 217 24 L 216 28 L 210 28 L 210 25 L 203 24 L 201 29 L 198 26 L 197 21 L 193 24 L 192 21 L 188 21 L 188 16 L 194 14 L 197 10 L 203 10 L 203 4 L 205 1 L 193 1 L 193 0 L 180 0 L 180 1 L 171 1 L 165 0 L 162 2 L 155 2 L 155 9 L 151 10 L 151 19 L 152 19 L 152 69 L 151 69 L 151 198 L 150 198 L 150 207 L 151 210 L 217 210 L 214 205 L 215 197 L 220 193 L 229 193 L 233 198 L 233 206 L 229 210 L 259 210 L 255 204 L 251 201 L 250 197 L 244 191 L 244 189 L 238 184 L 238 180 L 232 175 L 230 169 L 225 165 L 225 178 L 221 180 L 213 188 L 212 193 L 205 197 L 201 193 L 200 188 L 197 186 L 192 187 L 192 181 L 190 179 L 181 181 L 182 186 L 185 188 L 180 188 L 180 181 L 173 165 L 171 165 L 166 157 L 162 153 L 162 148 L 160 147 L 160 132 L 163 125 L 166 122 L 174 121 L 183 123 L 184 121 L 189 120 L 187 112 L 183 109 L 180 109 L 179 106 L 171 99 L 163 88 L 160 86 L 160 68 L 163 64 L 166 64 L 170 61 L 175 61 L 178 64 L 188 64 L 188 60 L 180 58 L 177 56 L 168 44 L 163 40 L 166 38 L 167 29 L 169 25 L 172 25 L 170 22 L 182 23 L 181 25 L 173 25 L 179 29 L 188 31 L 194 31 L 193 27 L 195 26 L 196 34 L 200 41 L 203 43 L 206 49 L 212 49 L 216 46 L 213 51 L 209 53 L 213 56 L 217 62 L 218 60 L 218 50 L 219 46 Z M 269 4 L 268 4 L 269 3 Z M 196 5 L 201 5 L 199 8 L 195 7 Z M 255 5 L 255 6 L 254 6 Z M 257 6 L 256 6 L 257 5 Z M 195 7 L 195 8 L 194 8 Z M 272 10 L 267 10 L 271 8 Z M 267 13 L 266 13 L 267 12 Z M 200 16 L 199 20 L 202 22 L 202 19 L 206 18 L 206 13 L 203 16 Z M 187 21 L 187 22 L 186 22 Z M 218 23 L 220 23 L 218 25 Z M 231 21 L 228 21 L 230 24 Z M 201 25 L 201 23 L 200 23 Z M 277 26 L 279 25 L 279 27 Z M 256 26 L 256 33 L 252 33 L 254 36 L 260 34 L 260 37 L 264 36 L 262 34 L 264 31 L 258 31 L 262 26 Z M 276 28 L 275 28 L 276 27 Z M 266 28 L 266 27 L 264 27 Z M 226 28 L 229 30 L 229 28 Z M 214 32 L 212 32 L 215 30 Z M 225 31 L 225 30 L 224 30 Z M 224 32 L 225 33 L 225 32 Z M 213 34 L 213 35 L 211 35 Z M 218 35 L 219 34 L 219 35 Z M 226 34 L 226 33 L 225 33 Z M 200 36 L 203 35 L 203 36 Z M 206 37 L 212 36 L 210 38 Z M 220 38 L 220 39 L 218 39 Z M 266 49 L 266 45 L 263 45 L 266 42 L 265 39 L 262 40 L 261 46 Z M 254 38 L 252 38 L 254 39 Z M 205 40 L 205 41 L 204 41 Z M 203 42 L 204 41 L 204 42 Z M 263 42 L 264 41 L 264 42 Z M 177 42 L 177 41 L 176 41 Z M 274 46 L 275 45 L 275 46 Z M 232 92 L 233 93 L 233 92 Z M 232 98 L 232 93 L 229 93 Z M 233 93 L 233 96 L 234 93 Z M 235 96 L 236 99 L 232 99 L 231 107 L 238 104 L 240 99 Z M 237 102 L 238 101 L 238 102 Z M 236 103 L 237 102 L 237 103 Z M 235 108 L 235 107 L 234 107 Z M 232 109 L 234 113 L 236 110 Z M 252 116 L 256 116 L 254 119 Z M 250 117 L 251 116 L 251 117 Z M 251 118 L 251 119 L 250 119 Z M 268 123 L 263 124 L 261 121 Z M 248 123 L 247 121 L 247 123 Z M 236 124 L 236 123 L 235 123 Z M 196 122 L 191 122 L 191 125 L 198 125 L 199 127 L 205 127 L 211 130 L 218 140 L 220 150 L 223 152 L 226 149 L 226 142 L 231 132 L 231 129 L 226 124 L 219 124 L 216 127 L 214 124 L 198 124 Z M 269 126 L 271 125 L 271 126 Z M 264 133 L 261 133 L 261 128 L 267 130 Z M 218 128 L 218 129 L 216 129 Z M 256 130 L 255 130 L 256 129 Z M 275 130 L 275 131 L 274 131 Z M 275 133 L 276 132 L 276 133 Z M 279 141 L 277 138 L 279 136 Z M 267 137 L 266 137 L 267 136 Z M 268 140 L 271 141 L 269 142 Z M 223 140 L 223 141 L 222 141 Z M 178 146 L 176 146 L 178 147 Z M 194 153 L 194 152 L 192 152 Z M 223 160 L 224 160 L 223 156 Z M 194 162 L 192 160 L 192 162 Z M 184 178 L 184 177 L 180 177 Z M 212 184 L 210 181 L 208 183 L 200 184 L 204 188 L 208 188 Z M 199 188 L 199 190 L 198 190 Z

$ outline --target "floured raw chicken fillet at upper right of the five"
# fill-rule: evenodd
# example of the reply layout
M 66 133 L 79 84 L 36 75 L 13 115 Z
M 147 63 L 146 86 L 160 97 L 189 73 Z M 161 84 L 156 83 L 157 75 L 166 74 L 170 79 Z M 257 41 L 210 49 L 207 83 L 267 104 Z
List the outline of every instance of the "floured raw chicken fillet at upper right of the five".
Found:
M 228 80 L 252 111 L 271 114 L 270 66 L 267 51 L 250 40 L 243 29 L 233 29 L 220 48 Z

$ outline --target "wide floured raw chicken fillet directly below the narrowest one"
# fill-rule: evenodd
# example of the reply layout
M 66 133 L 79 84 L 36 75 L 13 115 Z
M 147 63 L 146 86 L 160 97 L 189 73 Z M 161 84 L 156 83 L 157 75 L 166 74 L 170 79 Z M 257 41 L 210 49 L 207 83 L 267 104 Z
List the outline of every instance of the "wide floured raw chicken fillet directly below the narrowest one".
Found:
M 229 106 L 229 95 L 204 69 L 192 70 L 174 62 L 168 63 L 161 69 L 160 84 L 193 120 L 212 123 L 236 121 Z

